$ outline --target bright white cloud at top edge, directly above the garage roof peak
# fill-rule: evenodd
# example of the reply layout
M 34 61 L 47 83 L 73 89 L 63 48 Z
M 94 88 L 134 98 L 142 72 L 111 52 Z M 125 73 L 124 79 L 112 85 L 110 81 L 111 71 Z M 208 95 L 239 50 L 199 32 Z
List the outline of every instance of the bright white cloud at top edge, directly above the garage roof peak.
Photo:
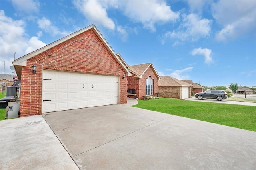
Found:
M 99 0 L 75 0 L 73 3 L 84 14 L 89 22 L 103 25 L 104 27 L 114 30 L 114 21 L 108 17 L 106 7 L 101 5 Z

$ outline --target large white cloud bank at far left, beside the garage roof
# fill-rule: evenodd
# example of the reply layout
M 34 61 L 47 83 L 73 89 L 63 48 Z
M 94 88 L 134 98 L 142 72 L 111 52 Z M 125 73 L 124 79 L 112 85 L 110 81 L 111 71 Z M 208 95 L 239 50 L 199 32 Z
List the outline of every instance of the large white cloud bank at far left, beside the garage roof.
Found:
M 14 60 L 15 52 L 17 59 L 28 51 L 44 46 L 45 43 L 38 39 L 42 35 L 40 32 L 38 37 L 28 39 L 25 31 L 26 23 L 23 20 L 13 20 L 5 16 L 3 10 L 0 10 L 0 25 L 0 73 L 12 74 L 9 67 L 12 66 L 11 61 Z

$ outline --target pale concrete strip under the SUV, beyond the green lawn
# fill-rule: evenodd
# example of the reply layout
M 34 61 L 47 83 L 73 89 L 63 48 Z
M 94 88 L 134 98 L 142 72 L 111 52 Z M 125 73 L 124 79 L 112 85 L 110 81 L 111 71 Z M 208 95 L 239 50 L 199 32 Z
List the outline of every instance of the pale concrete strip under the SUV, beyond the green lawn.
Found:
M 238 104 L 238 105 L 246 105 L 246 106 L 256 106 L 256 103 L 252 102 L 236 102 L 236 101 L 229 101 L 229 100 L 222 100 L 218 101 L 216 99 L 202 99 L 199 100 L 197 98 L 187 98 L 185 100 L 190 100 L 190 101 L 197 101 L 197 102 L 214 102 L 214 103 L 222 103 L 222 104 Z

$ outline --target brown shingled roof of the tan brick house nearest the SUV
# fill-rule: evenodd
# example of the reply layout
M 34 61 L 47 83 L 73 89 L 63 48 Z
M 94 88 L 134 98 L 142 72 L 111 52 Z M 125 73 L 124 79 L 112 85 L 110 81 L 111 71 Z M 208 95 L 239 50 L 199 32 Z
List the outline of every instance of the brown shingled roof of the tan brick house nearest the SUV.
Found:
M 158 86 L 193 86 L 182 80 L 170 76 L 160 76 L 161 80 L 158 82 Z

